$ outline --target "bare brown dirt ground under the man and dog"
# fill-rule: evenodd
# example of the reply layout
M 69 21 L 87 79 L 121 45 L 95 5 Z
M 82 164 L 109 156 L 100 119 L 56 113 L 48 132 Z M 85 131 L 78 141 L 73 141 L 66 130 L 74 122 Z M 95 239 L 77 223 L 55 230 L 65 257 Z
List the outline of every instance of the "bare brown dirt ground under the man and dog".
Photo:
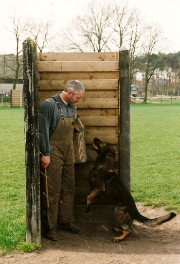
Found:
M 153 209 L 137 203 L 139 212 L 149 218 L 166 214 L 163 208 Z M 79 223 L 84 233 L 59 232 L 57 242 L 42 238 L 42 248 L 31 253 L 14 253 L 0 258 L 8 264 L 176 264 L 180 263 L 180 215 L 158 227 L 150 228 L 134 222 L 132 234 L 114 242 L 118 233 L 111 224 Z

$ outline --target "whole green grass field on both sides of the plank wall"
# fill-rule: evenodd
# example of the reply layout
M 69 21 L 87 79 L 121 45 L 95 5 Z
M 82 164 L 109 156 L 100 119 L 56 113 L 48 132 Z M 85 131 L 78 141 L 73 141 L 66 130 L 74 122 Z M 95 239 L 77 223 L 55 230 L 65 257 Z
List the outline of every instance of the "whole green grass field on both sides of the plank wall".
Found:
M 131 186 L 135 201 L 180 212 L 179 111 L 176 104 L 131 104 Z M 23 109 L 0 107 L 0 254 L 24 243 Z M 28 249 L 27 249 L 28 248 Z

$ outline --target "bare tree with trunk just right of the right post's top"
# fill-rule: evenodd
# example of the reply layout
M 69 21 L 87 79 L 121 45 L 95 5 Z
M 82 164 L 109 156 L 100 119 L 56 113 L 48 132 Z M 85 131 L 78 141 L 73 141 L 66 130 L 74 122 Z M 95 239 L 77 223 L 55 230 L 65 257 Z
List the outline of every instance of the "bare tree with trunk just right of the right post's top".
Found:
M 142 37 L 146 32 L 144 24 L 138 9 L 130 9 L 128 4 L 115 5 L 111 22 L 111 27 L 114 30 L 112 41 L 118 48 L 123 45 L 129 49 L 130 91 L 137 68 L 137 58 L 143 46 Z

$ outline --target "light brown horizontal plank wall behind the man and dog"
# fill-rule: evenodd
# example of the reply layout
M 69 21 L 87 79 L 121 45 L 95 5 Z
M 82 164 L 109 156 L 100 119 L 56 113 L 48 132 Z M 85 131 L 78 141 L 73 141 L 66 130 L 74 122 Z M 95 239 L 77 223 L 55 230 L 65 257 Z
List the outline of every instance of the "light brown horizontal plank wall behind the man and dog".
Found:
M 119 168 L 119 52 L 38 53 L 39 106 L 62 91 L 69 80 L 79 80 L 85 88 L 77 103 L 77 113 L 85 126 L 87 162 L 75 167 L 75 204 L 86 204 L 90 191 L 89 169 L 96 152 L 93 138 L 109 142 L 117 152 Z

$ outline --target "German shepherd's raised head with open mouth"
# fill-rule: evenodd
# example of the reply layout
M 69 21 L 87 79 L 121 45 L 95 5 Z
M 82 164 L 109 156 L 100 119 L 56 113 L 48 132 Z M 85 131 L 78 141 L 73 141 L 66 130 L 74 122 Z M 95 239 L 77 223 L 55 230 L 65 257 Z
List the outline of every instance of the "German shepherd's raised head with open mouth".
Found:
M 92 148 L 96 150 L 97 154 L 100 156 L 113 156 L 115 158 L 116 152 L 111 146 L 111 144 L 107 142 L 102 142 L 99 138 L 94 138 L 94 143 Z

